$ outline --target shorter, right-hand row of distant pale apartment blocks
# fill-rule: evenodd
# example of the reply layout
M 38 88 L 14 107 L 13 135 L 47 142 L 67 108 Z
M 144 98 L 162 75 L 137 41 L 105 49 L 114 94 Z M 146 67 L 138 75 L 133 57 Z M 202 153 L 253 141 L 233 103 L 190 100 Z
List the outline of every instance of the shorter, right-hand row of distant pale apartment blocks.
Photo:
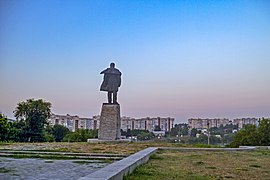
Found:
M 201 118 L 191 118 L 188 119 L 188 127 L 190 129 L 208 129 L 211 127 L 220 127 L 221 125 L 226 126 L 227 124 L 237 125 L 238 129 L 241 129 L 246 124 L 258 125 L 258 118 L 238 118 L 229 120 L 226 118 L 214 118 L 214 119 L 201 119 Z

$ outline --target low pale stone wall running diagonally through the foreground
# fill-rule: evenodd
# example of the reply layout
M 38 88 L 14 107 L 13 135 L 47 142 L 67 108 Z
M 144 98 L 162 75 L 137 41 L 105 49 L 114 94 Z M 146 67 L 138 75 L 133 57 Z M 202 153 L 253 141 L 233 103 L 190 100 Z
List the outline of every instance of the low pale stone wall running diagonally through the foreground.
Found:
M 132 173 L 137 166 L 146 163 L 149 160 L 149 157 L 157 150 L 158 148 L 154 147 L 144 149 L 92 174 L 81 177 L 79 180 L 121 180 L 123 179 L 123 176 Z

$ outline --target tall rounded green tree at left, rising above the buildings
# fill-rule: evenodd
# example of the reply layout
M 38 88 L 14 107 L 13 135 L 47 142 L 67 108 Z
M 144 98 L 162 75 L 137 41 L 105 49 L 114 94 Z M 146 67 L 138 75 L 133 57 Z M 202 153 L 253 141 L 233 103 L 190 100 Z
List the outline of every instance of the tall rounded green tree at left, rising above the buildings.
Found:
M 30 142 L 44 141 L 44 125 L 51 114 L 51 103 L 42 99 L 28 99 L 17 104 L 14 116 L 18 121 L 25 122 L 24 138 Z

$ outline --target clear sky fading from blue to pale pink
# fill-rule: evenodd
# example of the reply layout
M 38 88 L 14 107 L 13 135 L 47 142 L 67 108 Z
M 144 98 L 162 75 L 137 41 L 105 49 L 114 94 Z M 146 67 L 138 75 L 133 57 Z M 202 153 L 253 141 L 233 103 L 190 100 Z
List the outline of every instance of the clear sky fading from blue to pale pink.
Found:
M 121 115 L 270 117 L 268 0 L 0 0 L 0 111 L 29 98 L 92 117 L 99 74 L 123 73 Z

